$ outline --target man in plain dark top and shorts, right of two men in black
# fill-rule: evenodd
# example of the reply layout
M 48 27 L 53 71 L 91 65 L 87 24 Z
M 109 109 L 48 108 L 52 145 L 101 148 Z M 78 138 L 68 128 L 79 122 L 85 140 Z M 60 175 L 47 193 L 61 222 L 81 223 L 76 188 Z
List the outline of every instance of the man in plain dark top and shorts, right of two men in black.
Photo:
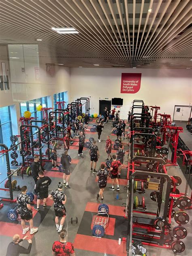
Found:
M 64 151 L 64 154 L 62 154 L 61 157 L 61 164 L 62 164 L 62 169 L 63 169 L 63 184 L 65 185 L 66 188 L 70 188 L 68 185 L 68 181 L 70 178 L 70 168 L 69 166 L 71 165 L 71 162 L 69 161 L 69 156 L 67 154 L 67 150 Z

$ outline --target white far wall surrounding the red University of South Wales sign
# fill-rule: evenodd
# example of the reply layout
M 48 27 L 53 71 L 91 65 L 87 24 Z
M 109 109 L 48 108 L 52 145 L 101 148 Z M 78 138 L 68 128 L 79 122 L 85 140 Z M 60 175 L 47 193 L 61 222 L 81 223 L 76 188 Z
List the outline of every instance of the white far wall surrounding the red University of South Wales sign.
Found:
M 141 88 L 136 94 L 121 94 L 121 74 L 142 73 Z M 158 105 L 158 113 L 171 114 L 175 105 L 192 101 L 192 72 L 190 69 L 132 69 L 132 68 L 71 68 L 71 100 L 91 96 L 91 113 L 98 113 L 99 98 L 123 98 L 124 105 L 140 99 L 145 105 Z

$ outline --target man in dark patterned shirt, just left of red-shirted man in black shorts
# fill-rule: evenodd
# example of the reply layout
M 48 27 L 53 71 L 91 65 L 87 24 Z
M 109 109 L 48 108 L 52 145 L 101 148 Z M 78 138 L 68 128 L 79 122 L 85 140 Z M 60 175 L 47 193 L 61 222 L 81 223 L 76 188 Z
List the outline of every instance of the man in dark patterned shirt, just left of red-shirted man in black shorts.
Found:
M 107 186 L 107 177 L 109 176 L 109 171 L 105 167 L 105 164 L 101 164 L 101 169 L 97 173 L 98 185 L 99 185 L 99 194 L 97 194 L 97 200 L 99 196 L 101 196 L 101 200 L 103 200 L 103 191 Z

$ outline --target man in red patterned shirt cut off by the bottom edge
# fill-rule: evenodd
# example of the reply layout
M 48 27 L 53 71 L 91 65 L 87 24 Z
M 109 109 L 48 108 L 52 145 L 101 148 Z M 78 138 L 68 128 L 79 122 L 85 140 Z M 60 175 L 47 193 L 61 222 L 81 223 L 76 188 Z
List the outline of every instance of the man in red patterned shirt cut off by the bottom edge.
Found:
M 55 241 L 52 247 L 52 255 L 58 256 L 75 256 L 73 243 L 66 241 L 67 232 L 62 229 L 59 237 L 60 241 Z

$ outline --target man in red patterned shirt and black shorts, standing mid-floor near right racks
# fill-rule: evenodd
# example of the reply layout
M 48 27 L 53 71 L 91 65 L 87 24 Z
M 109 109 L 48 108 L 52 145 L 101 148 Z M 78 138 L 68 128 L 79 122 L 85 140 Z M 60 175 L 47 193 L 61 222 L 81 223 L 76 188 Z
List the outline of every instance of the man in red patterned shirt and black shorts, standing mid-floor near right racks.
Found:
M 117 184 L 117 190 L 119 191 L 119 181 L 117 179 L 118 176 L 118 171 L 119 171 L 119 166 L 122 166 L 122 163 L 116 159 L 116 156 L 113 155 L 113 162 L 111 163 L 111 168 L 110 168 L 110 177 L 112 181 L 112 186 L 109 188 L 110 190 L 115 190 L 114 188 L 114 183 Z

